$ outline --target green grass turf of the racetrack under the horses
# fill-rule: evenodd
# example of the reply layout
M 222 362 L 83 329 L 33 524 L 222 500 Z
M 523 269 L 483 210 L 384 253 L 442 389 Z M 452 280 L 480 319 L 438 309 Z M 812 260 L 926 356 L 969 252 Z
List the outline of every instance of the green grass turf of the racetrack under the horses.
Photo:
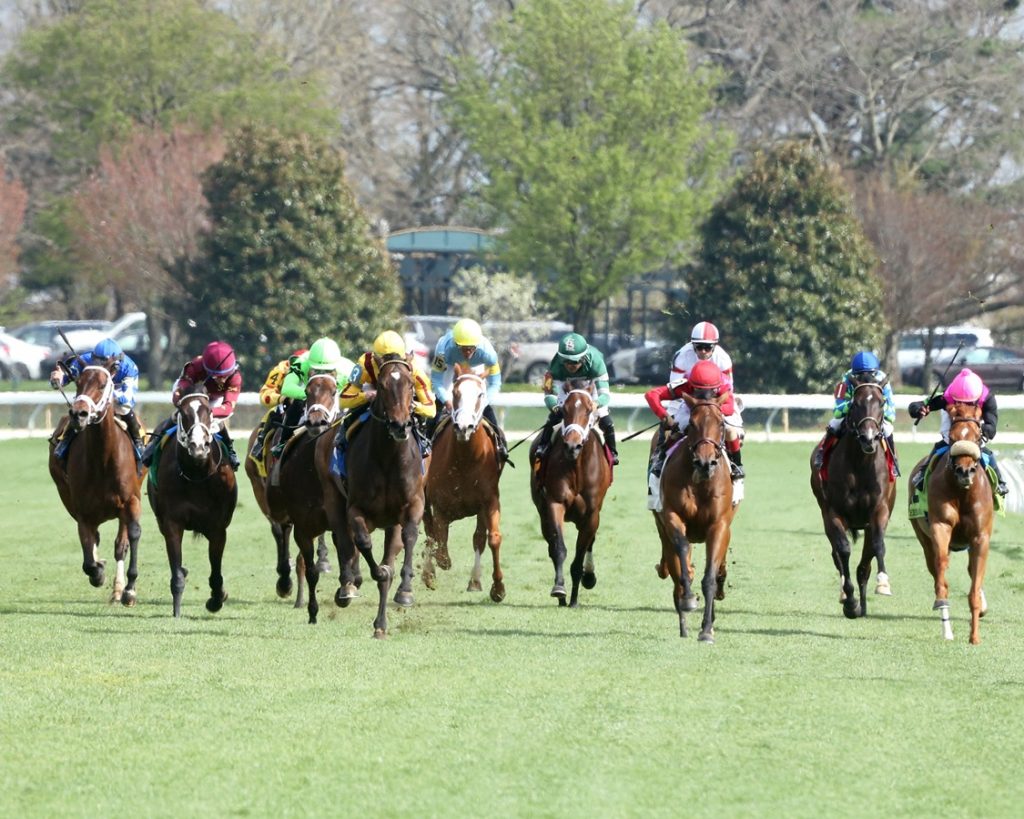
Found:
M 947 643 L 901 483 L 894 596 L 847 620 L 809 448 L 748 445 L 709 646 L 678 637 L 654 573 L 640 443 L 623 447 L 598 585 L 579 609 L 548 597 L 522 457 L 503 478 L 507 600 L 464 591 L 462 522 L 437 591 L 417 578 L 416 606 L 392 608 L 390 639 L 375 641 L 370 586 L 341 610 L 337 575 L 324 578 L 315 627 L 276 598 L 244 482 L 221 612 L 204 608 L 205 542 L 188 540 L 171 617 L 147 504 L 139 604 L 110 606 L 81 572 L 45 442 L 2 442 L 0 815 L 1018 815 L 1024 520 L 996 522 L 981 646 L 967 643 L 967 561 L 953 556 Z M 903 463 L 925 448 L 904 446 Z M 109 569 L 112 536 L 108 524 Z M 697 613 L 690 623 L 695 635 Z

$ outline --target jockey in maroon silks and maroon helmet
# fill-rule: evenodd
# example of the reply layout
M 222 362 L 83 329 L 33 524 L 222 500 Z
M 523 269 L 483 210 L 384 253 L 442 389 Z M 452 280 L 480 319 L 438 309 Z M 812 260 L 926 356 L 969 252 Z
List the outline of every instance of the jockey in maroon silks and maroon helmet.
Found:
M 227 447 L 231 469 L 238 470 L 239 457 L 234 454 L 234 444 L 227 431 L 227 420 L 234 413 L 234 404 L 242 393 L 242 374 L 239 372 L 234 350 L 226 341 L 211 341 L 206 345 L 202 355 L 191 358 L 181 369 L 181 375 L 178 376 L 171 392 L 171 403 L 175 408 L 181 401 L 181 396 L 197 384 L 206 387 L 210 396 L 211 415 L 213 420 L 219 423 L 220 436 Z M 143 464 L 150 466 L 160 445 L 160 439 L 173 426 L 173 415 L 160 422 L 150 436 L 150 443 L 142 454 Z

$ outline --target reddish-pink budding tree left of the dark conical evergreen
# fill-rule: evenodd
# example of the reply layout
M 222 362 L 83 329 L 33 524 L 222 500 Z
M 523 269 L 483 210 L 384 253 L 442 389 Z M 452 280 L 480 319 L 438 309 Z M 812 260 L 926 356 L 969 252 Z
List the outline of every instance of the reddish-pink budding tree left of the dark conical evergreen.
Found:
M 151 345 L 147 375 L 163 383 L 164 350 L 181 353 L 185 284 L 207 228 L 201 175 L 224 154 L 223 138 L 183 126 L 170 133 L 137 129 L 99 161 L 72 198 L 71 246 L 101 273 L 120 311 L 146 313 Z

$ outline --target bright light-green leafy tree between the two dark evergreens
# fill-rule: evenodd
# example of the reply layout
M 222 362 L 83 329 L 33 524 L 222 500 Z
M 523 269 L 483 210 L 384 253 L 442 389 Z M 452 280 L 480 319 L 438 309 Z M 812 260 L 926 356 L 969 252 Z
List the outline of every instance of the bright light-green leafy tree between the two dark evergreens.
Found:
M 497 42 L 493 72 L 465 64 L 454 121 L 505 228 L 502 261 L 585 329 L 628 277 L 691 251 L 728 161 L 706 119 L 715 78 L 621 2 L 531 0 Z

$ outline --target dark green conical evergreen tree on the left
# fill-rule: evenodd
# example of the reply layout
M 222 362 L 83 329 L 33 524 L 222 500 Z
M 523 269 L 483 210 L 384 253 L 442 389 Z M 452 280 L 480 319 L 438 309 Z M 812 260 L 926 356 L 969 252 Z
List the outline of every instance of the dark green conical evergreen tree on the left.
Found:
M 354 358 L 397 322 L 397 272 L 343 172 L 326 142 L 245 128 L 205 174 L 193 342 L 232 344 L 250 385 L 321 336 Z

